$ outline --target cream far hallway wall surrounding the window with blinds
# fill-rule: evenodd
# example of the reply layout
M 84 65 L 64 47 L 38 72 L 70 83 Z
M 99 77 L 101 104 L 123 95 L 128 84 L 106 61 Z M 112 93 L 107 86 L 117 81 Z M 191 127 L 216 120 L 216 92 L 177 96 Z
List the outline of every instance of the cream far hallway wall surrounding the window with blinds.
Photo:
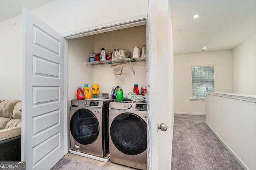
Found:
M 232 51 L 174 55 L 174 112 L 205 114 L 205 100 L 192 98 L 191 66 L 215 64 L 215 92 L 232 93 Z

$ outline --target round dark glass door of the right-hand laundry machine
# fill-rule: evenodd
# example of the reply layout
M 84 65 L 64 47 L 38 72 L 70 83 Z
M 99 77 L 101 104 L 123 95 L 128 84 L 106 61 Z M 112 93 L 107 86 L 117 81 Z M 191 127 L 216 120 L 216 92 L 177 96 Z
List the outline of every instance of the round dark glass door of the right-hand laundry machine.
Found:
M 137 155 L 147 149 L 146 122 L 133 113 L 122 113 L 110 126 L 111 140 L 124 154 Z

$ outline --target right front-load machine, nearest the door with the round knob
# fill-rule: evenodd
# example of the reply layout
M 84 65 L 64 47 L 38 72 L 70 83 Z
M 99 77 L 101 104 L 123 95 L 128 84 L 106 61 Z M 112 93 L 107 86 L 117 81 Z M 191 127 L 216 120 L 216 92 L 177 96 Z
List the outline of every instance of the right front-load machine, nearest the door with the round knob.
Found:
M 147 169 L 147 104 L 110 102 L 110 161 Z

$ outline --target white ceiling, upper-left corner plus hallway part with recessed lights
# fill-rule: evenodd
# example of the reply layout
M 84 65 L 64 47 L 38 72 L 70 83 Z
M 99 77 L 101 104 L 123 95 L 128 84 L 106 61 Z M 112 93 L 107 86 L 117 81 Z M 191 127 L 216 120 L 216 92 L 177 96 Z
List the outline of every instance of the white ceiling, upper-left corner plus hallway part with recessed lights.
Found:
M 0 22 L 52 1 L 0 0 Z M 175 54 L 234 49 L 256 33 L 256 0 L 171 0 L 171 11 Z

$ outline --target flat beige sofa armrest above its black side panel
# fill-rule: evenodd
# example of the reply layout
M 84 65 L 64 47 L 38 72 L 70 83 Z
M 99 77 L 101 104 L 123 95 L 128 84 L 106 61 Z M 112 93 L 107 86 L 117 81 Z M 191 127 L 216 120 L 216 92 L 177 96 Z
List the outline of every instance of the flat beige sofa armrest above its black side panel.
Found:
M 0 141 L 21 135 L 21 126 L 0 130 Z

